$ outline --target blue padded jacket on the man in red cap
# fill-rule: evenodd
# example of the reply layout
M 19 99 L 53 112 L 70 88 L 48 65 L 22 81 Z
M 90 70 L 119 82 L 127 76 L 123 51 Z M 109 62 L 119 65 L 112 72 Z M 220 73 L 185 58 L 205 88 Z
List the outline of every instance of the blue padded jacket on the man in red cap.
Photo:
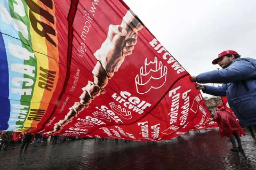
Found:
M 256 60 L 237 58 L 227 68 L 197 76 L 198 83 L 224 83 L 205 86 L 204 93 L 227 96 L 228 104 L 244 127 L 256 125 Z

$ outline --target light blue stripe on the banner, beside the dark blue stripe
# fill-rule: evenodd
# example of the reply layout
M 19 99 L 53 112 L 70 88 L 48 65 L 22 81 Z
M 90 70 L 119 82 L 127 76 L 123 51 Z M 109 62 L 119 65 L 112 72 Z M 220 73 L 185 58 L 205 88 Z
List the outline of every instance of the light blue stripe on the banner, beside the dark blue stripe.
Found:
M 7 56 L 7 64 L 9 68 L 8 72 L 8 78 L 9 78 L 9 96 L 7 99 L 9 99 L 9 118 L 7 120 L 8 126 L 6 131 L 15 131 L 19 130 L 20 126 L 16 126 L 16 122 L 20 121 L 19 119 L 19 113 L 20 113 L 20 98 L 21 94 L 17 91 L 17 89 L 22 89 L 23 83 L 14 81 L 15 84 L 13 84 L 13 80 L 15 78 L 23 78 L 23 73 L 19 73 L 17 71 L 12 71 L 12 65 L 14 64 L 24 64 L 23 59 L 19 58 L 19 52 L 13 51 L 13 48 L 16 47 L 22 47 L 21 41 L 19 38 L 19 21 L 13 19 L 10 15 L 10 8 L 9 8 L 9 0 L 0 0 L 0 30 L 2 33 L 2 36 L 4 39 L 5 46 L 1 46 L 2 48 L 5 47 L 6 56 Z M 13 38 L 14 37 L 14 38 Z M 16 46 L 16 47 L 15 47 Z M 22 52 L 21 52 L 22 53 Z M 0 54 L 1 55 L 1 54 Z M 17 57 L 18 56 L 18 57 Z M 0 56 L 1 57 L 1 56 Z M 1 64 L 0 64 L 1 66 Z M 7 90 L 8 91 L 8 90 Z M 2 94 L 0 93 L 0 97 L 2 97 Z M 4 97 L 5 98 L 5 97 Z M 6 102 L 6 101 L 5 101 Z M 4 103 L 3 103 L 4 104 Z M 2 103 L 0 103 L 1 108 L 4 106 Z M 11 107 L 11 108 L 10 108 Z M 10 111 L 12 111 L 10 113 Z M 2 114 L 0 111 L 0 122 L 2 122 Z M 6 115 L 5 115 L 6 116 Z M 3 122 L 2 122 L 3 123 Z M 4 121 L 5 123 L 5 121 Z M 2 125 L 3 127 L 3 125 Z M 6 126 L 4 126 L 6 127 Z M 22 128 L 22 127 L 21 127 Z

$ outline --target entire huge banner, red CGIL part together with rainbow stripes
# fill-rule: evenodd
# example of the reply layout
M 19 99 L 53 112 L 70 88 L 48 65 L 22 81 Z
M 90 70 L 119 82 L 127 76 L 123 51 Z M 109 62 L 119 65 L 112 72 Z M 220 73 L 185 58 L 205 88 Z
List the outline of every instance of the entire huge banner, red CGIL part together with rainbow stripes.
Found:
M 2 0 L 0 29 L 0 130 L 157 141 L 211 116 L 121 0 Z

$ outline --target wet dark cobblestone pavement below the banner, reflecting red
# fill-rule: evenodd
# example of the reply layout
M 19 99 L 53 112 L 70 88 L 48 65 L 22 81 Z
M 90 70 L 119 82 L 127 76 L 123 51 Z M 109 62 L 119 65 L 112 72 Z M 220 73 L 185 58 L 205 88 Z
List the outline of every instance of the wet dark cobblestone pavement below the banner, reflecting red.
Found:
M 68 141 L 0 152 L 0 169 L 256 169 L 256 143 L 242 138 L 244 153 L 231 152 L 231 143 L 218 130 L 190 132 L 168 141 L 124 143 L 109 139 Z

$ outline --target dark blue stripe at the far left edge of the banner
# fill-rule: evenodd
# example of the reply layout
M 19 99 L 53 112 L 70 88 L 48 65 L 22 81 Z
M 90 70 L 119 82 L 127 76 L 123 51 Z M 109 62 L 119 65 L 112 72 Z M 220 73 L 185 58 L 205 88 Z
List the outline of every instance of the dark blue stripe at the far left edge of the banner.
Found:
M 9 72 L 7 55 L 4 45 L 3 35 L 0 34 L 0 130 L 8 128 L 8 120 L 10 117 L 10 101 L 9 101 Z

